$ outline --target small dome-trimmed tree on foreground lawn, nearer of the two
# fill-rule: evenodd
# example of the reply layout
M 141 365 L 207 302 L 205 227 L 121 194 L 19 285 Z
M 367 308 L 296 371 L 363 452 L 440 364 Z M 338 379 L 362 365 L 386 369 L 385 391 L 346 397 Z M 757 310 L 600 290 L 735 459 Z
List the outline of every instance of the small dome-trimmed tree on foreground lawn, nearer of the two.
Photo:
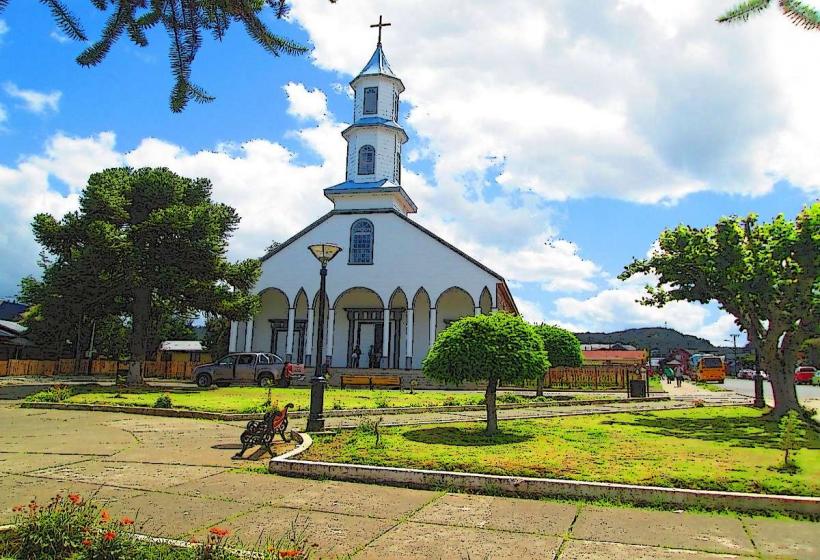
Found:
M 431 379 L 487 382 L 488 435 L 498 431 L 498 385 L 537 379 L 548 367 L 544 343 L 535 328 L 504 312 L 459 319 L 438 335 L 422 362 L 424 375 Z

